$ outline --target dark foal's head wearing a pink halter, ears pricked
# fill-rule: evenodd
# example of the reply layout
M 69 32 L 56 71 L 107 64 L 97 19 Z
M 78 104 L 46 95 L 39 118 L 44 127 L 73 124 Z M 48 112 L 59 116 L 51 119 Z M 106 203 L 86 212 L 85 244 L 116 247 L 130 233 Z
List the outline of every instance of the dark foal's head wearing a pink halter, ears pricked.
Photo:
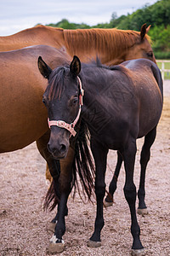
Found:
M 48 79 L 48 87 L 42 97 L 42 102 L 48 108 L 48 125 L 51 129 L 48 150 L 54 158 L 62 159 L 68 152 L 71 135 L 76 134 L 74 126 L 81 110 L 82 84 L 77 77 L 81 63 L 74 56 L 70 67 L 52 70 L 39 57 L 38 67 L 42 76 Z

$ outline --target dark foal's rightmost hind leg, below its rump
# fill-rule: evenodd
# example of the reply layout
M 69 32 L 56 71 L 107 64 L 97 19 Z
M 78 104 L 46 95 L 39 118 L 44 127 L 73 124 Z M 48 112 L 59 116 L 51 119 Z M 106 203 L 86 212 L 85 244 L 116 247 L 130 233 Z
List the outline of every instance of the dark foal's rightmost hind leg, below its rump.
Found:
M 146 172 L 146 166 L 148 164 L 148 161 L 150 160 L 150 147 L 154 143 L 156 138 L 156 127 L 151 130 L 145 137 L 144 137 L 144 145 L 140 154 L 140 166 L 141 166 L 141 172 L 140 172 L 140 183 L 139 183 L 139 191 L 138 191 L 138 198 L 139 198 L 139 208 L 137 212 L 139 214 L 147 214 L 148 210 L 144 202 L 145 197 L 145 189 L 144 189 L 144 183 L 145 183 L 145 172 Z

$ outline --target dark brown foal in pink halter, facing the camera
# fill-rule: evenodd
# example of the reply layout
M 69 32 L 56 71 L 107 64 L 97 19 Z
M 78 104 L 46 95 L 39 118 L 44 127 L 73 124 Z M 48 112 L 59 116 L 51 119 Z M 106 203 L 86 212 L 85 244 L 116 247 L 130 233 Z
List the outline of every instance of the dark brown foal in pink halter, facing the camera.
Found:
M 126 172 L 124 195 L 131 213 L 133 253 L 144 253 L 140 241 L 140 229 L 136 216 L 136 187 L 133 183 L 136 140 L 144 137 L 141 152 L 141 176 L 150 160 L 150 147 L 156 138 L 156 126 L 161 117 L 163 88 L 161 72 L 152 61 L 139 59 L 125 61 L 122 65 L 106 67 L 86 64 L 74 56 L 71 65 L 52 70 L 38 59 L 42 75 L 48 79 L 43 102 L 48 109 L 48 125 L 51 128 L 48 150 L 55 159 L 63 159 L 68 153 L 70 137 L 74 136 L 77 119 L 88 125 L 90 145 L 95 163 L 95 194 L 97 213 L 94 233 L 89 247 L 101 245 L 100 232 L 104 226 L 103 199 L 105 196 L 105 171 L 109 149 L 122 156 Z M 48 74 L 48 75 L 47 75 Z M 85 94 L 83 96 L 83 90 Z M 82 104 L 83 96 L 83 104 Z M 82 110 L 82 113 L 81 113 Z M 81 113 L 81 114 L 80 114 Z M 81 129 L 80 129 L 81 131 Z M 82 134 L 80 140 L 82 140 Z M 82 150 L 78 151 L 83 164 Z M 86 175 L 88 177 L 88 175 Z M 65 191 L 66 204 L 69 193 Z M 65 208 L 65 205 L 62 206 Z M 60 212 L 61 213 L 61 212 Z M 65 216 L 55 227 L 51 249 L 63 247 Z

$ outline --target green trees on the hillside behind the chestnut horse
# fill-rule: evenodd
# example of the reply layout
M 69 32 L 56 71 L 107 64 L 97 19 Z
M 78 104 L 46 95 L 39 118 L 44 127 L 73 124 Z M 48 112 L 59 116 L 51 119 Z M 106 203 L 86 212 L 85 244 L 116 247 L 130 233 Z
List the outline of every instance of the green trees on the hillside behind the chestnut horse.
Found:
M 148 26 L 151 25 L 149 35 L 153 42 L 152 47 L 156 58 L 170 59 L 170 0 L 160 0 L 150 6 L 145 4 L 142 9 L 138 9 L 132 15 L 122 15 L 118 18 L 116 12 L 113 12 L 109 23 L 99 23 L 96 26 L 70 23 L 66 19 L 60 20 L 56 24 L 48 24 L 48 26 L 64 29 L 116 27 L 123 30 L 140 31 L 144 23 L 147 23 Z

